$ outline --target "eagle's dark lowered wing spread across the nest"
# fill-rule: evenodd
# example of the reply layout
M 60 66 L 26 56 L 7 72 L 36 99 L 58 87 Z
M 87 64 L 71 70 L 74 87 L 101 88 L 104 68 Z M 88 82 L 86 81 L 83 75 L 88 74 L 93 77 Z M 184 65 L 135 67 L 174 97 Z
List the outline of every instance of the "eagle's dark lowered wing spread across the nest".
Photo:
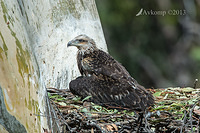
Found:
M 127 83 L 101 80 L 96 76 L 79 77 L 70 82 L 70 90 L 81 97 L 109 108 L 144 111 L 154 103 L 153 96 L 143 89 L 132 89 Z

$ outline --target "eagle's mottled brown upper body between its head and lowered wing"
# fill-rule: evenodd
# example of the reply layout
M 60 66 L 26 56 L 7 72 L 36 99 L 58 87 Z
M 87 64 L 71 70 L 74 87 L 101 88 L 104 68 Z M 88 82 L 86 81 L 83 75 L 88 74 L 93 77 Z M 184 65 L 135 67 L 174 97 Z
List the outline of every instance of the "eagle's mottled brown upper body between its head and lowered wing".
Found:
M 128 71 L 112 56 L 102 50 L 85 54 L 81 59 L 78 55 L 78 66 L 81 74 L 95 74 L 108 76 L 115 80 L 132 80 L 136 82 Z M 81 60 L 81 61 L 80 61 Z

